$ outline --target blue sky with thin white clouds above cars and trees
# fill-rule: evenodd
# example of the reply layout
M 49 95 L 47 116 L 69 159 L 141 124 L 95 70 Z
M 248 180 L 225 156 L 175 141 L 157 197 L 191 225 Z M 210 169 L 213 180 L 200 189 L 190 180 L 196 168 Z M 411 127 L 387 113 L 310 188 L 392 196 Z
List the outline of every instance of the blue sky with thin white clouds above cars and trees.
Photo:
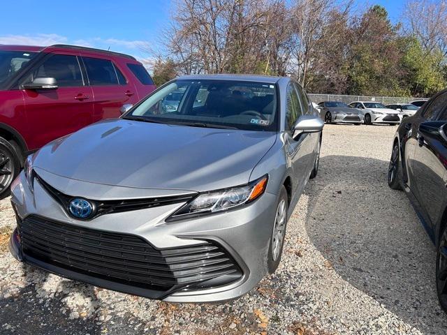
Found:
M 354 0 L 359 10 L 384 6 L 392 22 L 400 20 L 404 1 Z M 0 44 L 84 45 L 149 61 L 142 48 L 159 50 L 172 7 L 170 0 L 2 1 Z

